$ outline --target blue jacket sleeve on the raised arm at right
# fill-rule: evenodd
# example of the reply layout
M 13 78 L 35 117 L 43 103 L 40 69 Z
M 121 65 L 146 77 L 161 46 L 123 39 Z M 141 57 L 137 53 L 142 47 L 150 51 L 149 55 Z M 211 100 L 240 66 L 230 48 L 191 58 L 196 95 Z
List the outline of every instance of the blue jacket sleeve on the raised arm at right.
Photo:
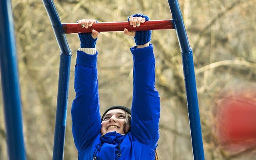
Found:
M 131 48 L 133 55 L 132 135 L 140 142 L 156 146 L 159 139 L 160 97 L 155 88 L 153 46 Z

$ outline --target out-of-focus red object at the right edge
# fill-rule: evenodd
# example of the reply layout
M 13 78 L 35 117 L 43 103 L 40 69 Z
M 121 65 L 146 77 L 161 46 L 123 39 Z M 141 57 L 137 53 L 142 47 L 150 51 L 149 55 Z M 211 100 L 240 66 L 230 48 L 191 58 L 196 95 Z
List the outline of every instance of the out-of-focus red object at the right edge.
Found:
M 216 112 L 217 135 L 222 145 L 256 144 L 256 94 L 224 95 Z

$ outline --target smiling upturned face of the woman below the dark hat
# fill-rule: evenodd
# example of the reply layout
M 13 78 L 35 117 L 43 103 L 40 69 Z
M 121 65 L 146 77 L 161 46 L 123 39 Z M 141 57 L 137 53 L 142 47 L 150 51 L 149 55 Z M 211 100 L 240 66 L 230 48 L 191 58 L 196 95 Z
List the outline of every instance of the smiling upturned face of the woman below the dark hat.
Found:
M 117 133 L 125 134 L 123 129 L 125 117 L 126 114 L 124 110 L 109 110 L 101 122 L 101 133 L 106 134 L 108 132 L 116 131 Z M 127 125 L 126 127 L 129 126 Z

